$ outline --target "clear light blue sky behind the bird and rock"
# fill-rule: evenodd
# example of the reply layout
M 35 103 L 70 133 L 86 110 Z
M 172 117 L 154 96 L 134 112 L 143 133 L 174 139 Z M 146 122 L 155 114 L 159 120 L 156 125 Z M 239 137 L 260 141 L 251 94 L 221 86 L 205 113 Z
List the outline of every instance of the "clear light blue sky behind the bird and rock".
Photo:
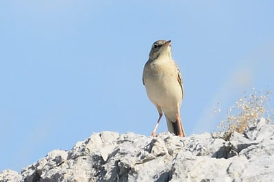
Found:
M 1 1 L 0 171 L 92 132 L 150 135 L 151 44 L 172 40 L 187 135 L 210 132 L 244 90 L 274 90 L 274 1 Z M 165 119 L 158 132 L 166 131 Z

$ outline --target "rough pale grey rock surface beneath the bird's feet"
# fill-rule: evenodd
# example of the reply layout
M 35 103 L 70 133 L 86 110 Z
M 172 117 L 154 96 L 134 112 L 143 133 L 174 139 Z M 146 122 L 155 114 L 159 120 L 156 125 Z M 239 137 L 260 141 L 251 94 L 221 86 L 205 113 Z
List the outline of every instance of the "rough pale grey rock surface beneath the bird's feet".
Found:
M 93 133 L 71 151 L 51 151 L 0 181 L 274 181 L 274 126 L 262 118 L 229 141 L 203 133 L 179 138 Z

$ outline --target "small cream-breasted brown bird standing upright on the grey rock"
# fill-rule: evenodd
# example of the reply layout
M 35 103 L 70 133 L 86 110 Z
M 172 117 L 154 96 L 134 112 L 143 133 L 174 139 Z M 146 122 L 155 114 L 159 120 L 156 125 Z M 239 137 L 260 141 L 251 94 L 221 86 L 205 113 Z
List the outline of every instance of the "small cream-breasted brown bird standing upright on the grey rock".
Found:
M 164 112 L 169 132 L 185 137 L 180 116 L 184 87 L 180 70 L 171 57 L 171 40 L 157 40 L 152 44 L 149 60 L 143 69 L 142 83 L 159 113 L 151 135 L 156 136 Z

